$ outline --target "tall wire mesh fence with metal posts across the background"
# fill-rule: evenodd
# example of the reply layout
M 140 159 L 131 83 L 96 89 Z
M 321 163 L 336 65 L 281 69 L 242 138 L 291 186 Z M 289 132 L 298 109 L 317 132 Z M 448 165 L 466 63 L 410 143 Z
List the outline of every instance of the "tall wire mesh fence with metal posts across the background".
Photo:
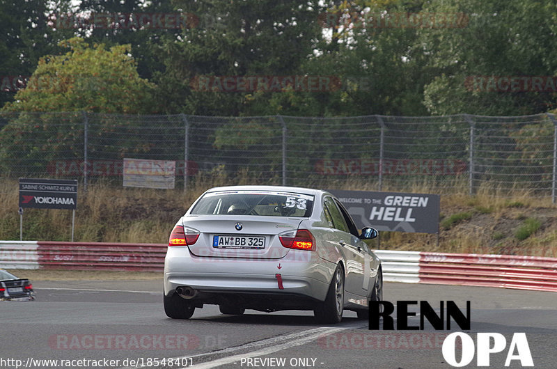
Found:
M 176 183 L 556 199 L 551 114 L 348 118 L 1 113 L 1 178 L 121 185 L 123 159 L 176 162 Z M 201 182 L 205 181 L 205 182 Z

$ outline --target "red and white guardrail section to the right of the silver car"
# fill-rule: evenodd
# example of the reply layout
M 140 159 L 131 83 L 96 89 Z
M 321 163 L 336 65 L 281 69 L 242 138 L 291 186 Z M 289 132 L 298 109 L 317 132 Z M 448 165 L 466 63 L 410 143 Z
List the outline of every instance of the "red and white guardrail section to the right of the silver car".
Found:
M 557 292 L 557 258 L 375 251 L 385 281 Z

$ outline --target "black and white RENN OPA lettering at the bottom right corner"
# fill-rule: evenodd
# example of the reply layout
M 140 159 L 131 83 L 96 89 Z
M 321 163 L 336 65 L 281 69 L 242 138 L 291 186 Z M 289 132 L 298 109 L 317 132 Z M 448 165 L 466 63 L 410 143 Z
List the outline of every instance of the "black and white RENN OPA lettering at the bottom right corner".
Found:
M 416 317 L 416 311 L 409 311 L 409 306 L 419 308 L 419 325 L 410 325 L 408 318 Z M 455 301 L 439 301 L 439 314 L 427 301 L 396 301 L 396 329 L 394 318 L 391 314 L 395 305 L 390 301 L 370 301 L 370 330 L 379 330 L 380 318 L 383 321 L 382 329 L 393 330 L 424 330 L 425 320 L 437 331 L 450 330 L 451 319 L 462 330 L 469 331 L 471 326 L 470 301 L 466 301 L 466 311 L 463 312 Z M 460 343 L 457 340 L 460 339 Z M 460 359 L 457 359 L 456 348 L 462 347 Z M 477 347 L 477 350 L 476 350 Z M 507 340 L 501 333 L 476 333 L 476 345 L 468 333 L 453 332 L 444 340 L 442 346 L 443 358 L 450 366 L 462 367 L 469 365 L 476 354 L 478 366 L 489 366 L 491 354 L 503 352 L 507 347 Z M 513 333 L 505 359 L 505 367 L 512 361 L 519 361 L 521 366 L 534 366 L 526 333 Z

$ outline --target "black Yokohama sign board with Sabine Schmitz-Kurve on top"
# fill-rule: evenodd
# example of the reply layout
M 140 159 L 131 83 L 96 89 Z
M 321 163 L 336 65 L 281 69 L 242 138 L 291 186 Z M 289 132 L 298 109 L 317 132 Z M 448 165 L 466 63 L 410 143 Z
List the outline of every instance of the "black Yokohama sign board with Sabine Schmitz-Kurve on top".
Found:
M 77 180 L 19 178 L 19 207 L 76 209 Z

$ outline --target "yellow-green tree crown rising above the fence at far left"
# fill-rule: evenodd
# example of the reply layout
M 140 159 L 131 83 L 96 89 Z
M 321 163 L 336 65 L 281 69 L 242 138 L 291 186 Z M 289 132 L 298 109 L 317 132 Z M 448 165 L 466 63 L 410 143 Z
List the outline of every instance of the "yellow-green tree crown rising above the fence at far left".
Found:
M 70 51 L 40 58 L 29 84 L 4 111 L 150 112 L 154 86 L 137 74 L 130 45 L 107 50 L 81 38 L 61 45 Z

